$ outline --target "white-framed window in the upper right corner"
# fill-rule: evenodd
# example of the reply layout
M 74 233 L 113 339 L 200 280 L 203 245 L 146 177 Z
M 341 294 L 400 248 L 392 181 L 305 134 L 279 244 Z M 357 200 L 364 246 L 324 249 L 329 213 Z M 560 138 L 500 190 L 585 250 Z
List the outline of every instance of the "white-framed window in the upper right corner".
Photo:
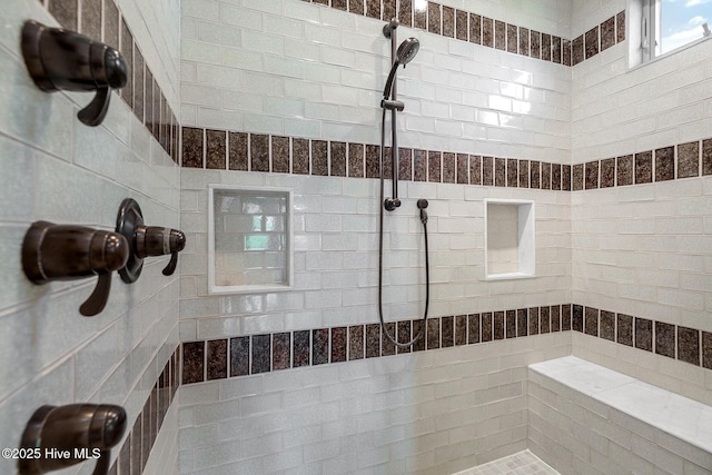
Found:
M 631 41 L 631 66 L 637 66 L 708 38 L 712 0 L 631 0 L 630 18 L 631 39 L 640 39 Z

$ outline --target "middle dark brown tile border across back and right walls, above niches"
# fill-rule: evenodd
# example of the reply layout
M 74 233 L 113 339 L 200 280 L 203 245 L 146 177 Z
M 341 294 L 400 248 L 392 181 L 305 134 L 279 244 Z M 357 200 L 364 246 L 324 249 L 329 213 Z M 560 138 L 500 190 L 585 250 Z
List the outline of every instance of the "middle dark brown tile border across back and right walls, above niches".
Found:
M 378 178 L 380 146 L 264 133 L 182 128 L 182 167 Z M 386 148 L 386 156 L 390 147 Z M 712 138 L 585 164 L 399 149 L 408 181 L 581 191 L 712 175 Z M 390 159 L 384 172 L 390 174 Z

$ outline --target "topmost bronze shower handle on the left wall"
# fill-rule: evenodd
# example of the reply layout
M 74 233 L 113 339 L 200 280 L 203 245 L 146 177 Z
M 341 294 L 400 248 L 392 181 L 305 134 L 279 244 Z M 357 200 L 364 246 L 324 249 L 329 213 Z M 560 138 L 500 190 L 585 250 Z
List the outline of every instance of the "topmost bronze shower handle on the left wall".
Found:
M 22 27 L 22 56 L 32 80 L 43 91 L 97 91 L 77 116 L 91 127 L 103 121 L 111 89 L 126 86 L 129 75 L 126 61 L 115 48 L 33 20 Z

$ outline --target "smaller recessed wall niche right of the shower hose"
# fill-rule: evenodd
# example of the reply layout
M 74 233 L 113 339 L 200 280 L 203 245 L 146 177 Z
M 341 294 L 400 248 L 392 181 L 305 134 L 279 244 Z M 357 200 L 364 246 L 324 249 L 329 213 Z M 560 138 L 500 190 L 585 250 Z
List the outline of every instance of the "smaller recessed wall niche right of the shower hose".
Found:
M 534 201 L 485 199 L 485 280 L 534 273 Z

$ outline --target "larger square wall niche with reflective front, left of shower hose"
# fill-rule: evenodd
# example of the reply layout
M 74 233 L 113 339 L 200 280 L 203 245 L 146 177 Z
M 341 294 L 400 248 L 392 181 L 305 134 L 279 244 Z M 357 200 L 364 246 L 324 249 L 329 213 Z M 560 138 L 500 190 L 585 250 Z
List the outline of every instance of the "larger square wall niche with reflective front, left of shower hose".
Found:
M 291 288 L 293 202 L 290 189 L 209 186 L 210 295 Z

